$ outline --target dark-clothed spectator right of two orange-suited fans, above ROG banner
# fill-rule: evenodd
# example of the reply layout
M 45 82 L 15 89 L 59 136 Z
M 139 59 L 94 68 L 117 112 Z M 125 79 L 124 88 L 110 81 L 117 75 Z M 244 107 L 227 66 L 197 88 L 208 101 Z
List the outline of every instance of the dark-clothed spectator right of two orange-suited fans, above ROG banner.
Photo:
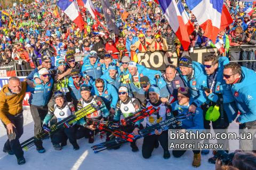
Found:
M 167 56 L 171 57 L 172 54 L 175 52 L 175 39 L 177 38 L 177 36 L 174 34 L 172 28 L 170 25 L 167 26 L 166 28 L 166 33 L 163 34 L 163 38 L 166 39 L 166 43 L 169 46 L 169 48 L 171 49 L 171 51 L 168 51 Z

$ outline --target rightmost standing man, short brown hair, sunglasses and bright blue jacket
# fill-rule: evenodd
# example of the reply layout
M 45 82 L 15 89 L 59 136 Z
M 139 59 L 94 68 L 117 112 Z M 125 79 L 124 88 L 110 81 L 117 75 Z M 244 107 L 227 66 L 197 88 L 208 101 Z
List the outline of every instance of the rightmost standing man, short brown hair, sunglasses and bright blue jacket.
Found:
M 239 124 L 239 133 L 256 134 L 256 105 L 254 96 L 256 94 L 256 73 L 239 64 L 231 62 L 226 64 L 223 69 L 223 79 L 226 84 L 231 85 L 231 92 L 234 95 L 236 106 L 240 112 L 236 123 Z M 250 129 L 250 131 L 248 131 Z M 254 139 L 239 140 L 239 149 L 244 152 L 252 152 L 255 150 Z

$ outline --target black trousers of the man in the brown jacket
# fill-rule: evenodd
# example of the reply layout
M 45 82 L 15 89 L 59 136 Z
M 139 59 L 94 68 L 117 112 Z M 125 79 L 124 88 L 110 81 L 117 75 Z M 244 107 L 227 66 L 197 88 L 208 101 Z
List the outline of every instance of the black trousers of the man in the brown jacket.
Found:
M 17 115 L 5 115 L 12 124 L 14 124 L 15 127 L 13 127 L 13 133 L 8 134 L 7 132 L 7 137 L 8 140 L 4 144 L 4 149 L 5 150 L 12 150 L 17 157 L 17 159 L 22 158 L 24 155 L 24 152 L 21 148 L 20 145 L 20 137 L 23 134 L 23 110 L 17 114 Z M 4 127 L 6 128 L 6 125 L 2 121 Z

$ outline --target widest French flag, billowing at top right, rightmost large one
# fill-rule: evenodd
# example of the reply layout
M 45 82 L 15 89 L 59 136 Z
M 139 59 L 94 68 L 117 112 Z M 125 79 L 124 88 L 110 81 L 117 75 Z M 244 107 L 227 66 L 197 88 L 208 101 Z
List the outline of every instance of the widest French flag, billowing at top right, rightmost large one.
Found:
M 205 31 L 204 36 L 210 38 L 213 44 L 219 32 L 233 22 L 223 0 L 186 0 L 186 4 Z

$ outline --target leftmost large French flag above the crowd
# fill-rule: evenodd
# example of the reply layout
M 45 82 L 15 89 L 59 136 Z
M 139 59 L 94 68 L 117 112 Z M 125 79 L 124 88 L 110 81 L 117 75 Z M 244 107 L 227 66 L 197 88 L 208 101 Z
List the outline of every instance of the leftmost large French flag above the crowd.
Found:
M 57 5 L 60 7 L 61 10 L 64 11 L 72 20 L 79 29 L 84 29 L 84 20 L 81 16 L 81 13 L 79 11 L 78 5 L 76 1 L 73 0 L 59 0 Z

